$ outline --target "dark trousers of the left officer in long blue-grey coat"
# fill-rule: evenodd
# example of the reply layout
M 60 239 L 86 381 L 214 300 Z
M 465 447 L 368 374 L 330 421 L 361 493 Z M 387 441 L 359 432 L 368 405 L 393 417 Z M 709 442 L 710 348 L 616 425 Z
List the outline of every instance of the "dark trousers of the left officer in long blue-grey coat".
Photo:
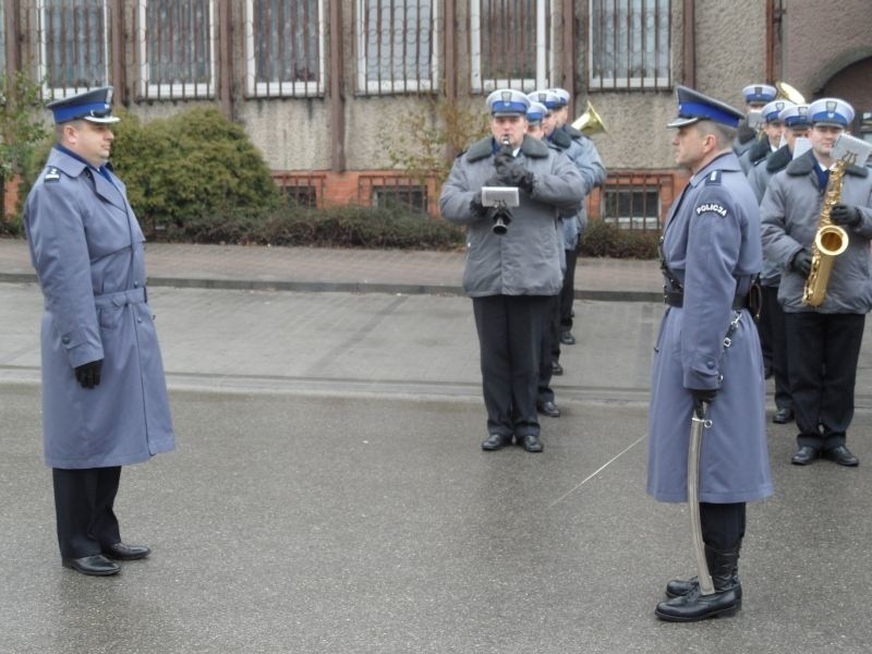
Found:
M 121 481 L 121 467 L 52 468 L 51 473 L 61 556 L 92 556 L 120 543 L 121 532 L 112 507 Z

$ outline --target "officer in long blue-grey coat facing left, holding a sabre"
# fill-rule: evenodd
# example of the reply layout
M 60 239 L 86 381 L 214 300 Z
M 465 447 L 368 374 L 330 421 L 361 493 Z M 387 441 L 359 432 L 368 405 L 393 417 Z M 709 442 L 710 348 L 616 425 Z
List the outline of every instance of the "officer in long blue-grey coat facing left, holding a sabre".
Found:
M 688 498 L 691 412 L 708 407 L 699 498 L 714 594 L 695 579 L 667 584 L 664 620 L 693 621 L 741 607 L 738 559 L 746 502 L 772 494 L 760 340 L 747 311 L 761 267 L 760 213 L 730 140 L 742 114 L 679 86 L 669 123 L 676 161 L 692 177 L 664 229 L 662 267 L 669 305 L 654 353 L 647 492 Z M 728 341 L 726 339 L 729 339 Z

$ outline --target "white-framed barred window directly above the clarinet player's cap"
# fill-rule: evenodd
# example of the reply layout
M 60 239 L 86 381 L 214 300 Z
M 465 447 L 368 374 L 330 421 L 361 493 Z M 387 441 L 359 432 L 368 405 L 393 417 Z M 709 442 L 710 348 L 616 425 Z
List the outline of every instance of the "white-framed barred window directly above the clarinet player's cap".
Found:
M 532 92 L 550 86 L 550 0 L 470 0 L 472 87 Z

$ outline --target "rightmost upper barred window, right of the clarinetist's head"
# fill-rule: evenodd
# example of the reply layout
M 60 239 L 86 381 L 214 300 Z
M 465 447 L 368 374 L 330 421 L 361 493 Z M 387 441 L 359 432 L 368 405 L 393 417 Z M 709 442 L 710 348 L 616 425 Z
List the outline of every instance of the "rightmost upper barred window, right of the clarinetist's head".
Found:
M 590 0 L 591 88 L 669 86 L 669 0 Z

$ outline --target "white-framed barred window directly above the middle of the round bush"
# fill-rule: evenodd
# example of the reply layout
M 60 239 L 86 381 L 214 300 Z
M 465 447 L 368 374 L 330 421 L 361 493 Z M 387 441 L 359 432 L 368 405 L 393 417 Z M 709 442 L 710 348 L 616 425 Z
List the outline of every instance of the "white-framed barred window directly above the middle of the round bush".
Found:
M 145 97 L 215 94 L 214 0 L 140 0 L 138 40 Z

